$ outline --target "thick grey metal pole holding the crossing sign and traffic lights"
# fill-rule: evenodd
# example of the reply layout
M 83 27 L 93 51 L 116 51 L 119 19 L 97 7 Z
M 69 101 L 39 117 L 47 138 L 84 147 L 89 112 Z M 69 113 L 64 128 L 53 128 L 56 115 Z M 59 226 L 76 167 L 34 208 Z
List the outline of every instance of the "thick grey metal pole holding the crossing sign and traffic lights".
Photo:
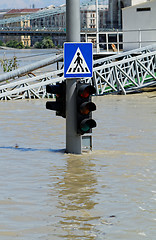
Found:
M 80 0 L 66 0 L 66 41 L 80 42 Z M 76 79 L 66 79 L 66 152 L 81 154 L 76 132 Z

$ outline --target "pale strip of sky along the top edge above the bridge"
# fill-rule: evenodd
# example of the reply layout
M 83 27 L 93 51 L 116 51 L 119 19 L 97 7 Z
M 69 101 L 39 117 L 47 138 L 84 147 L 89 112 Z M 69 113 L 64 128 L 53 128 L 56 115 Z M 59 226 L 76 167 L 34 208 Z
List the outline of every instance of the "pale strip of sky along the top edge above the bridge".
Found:
M 95 0 L 80 0 L 80 2 L 87 1 L 95 2 Z M 31 8 L 33 4 L 35 8 L 44 8 L 50 5 L 59 6 L 65 3 L 66 0 L 0 0 L 0 9 Z

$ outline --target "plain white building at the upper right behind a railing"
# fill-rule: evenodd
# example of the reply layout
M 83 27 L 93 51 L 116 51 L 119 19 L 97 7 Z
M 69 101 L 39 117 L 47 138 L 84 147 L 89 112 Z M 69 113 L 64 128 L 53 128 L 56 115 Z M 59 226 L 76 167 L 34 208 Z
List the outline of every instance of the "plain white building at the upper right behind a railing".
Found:
M 156 43 L 156 0 L 124 8 L 123 50 Z

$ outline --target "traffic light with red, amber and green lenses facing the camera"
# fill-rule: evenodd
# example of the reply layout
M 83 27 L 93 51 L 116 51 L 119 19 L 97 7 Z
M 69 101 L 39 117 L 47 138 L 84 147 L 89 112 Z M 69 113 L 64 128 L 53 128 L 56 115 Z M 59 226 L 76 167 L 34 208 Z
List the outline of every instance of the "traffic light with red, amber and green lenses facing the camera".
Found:
M 77 133 L 83 135 L 91 133 L 96 127 L 92 119 L 92 111 L 96 105 L 91 101 L 91 95 L 96 93 L 94 86 L 88 83 L 77 83 Z

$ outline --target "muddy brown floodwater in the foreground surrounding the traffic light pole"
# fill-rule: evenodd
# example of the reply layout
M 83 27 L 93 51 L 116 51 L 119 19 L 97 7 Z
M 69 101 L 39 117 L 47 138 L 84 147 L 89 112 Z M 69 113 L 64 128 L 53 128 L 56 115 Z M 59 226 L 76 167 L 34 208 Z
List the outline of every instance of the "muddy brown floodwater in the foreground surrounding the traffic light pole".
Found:
M 46 100 L 0 102 L 0 239 L 155 240 L 156 92 L 93 101 L 82 155 Z

